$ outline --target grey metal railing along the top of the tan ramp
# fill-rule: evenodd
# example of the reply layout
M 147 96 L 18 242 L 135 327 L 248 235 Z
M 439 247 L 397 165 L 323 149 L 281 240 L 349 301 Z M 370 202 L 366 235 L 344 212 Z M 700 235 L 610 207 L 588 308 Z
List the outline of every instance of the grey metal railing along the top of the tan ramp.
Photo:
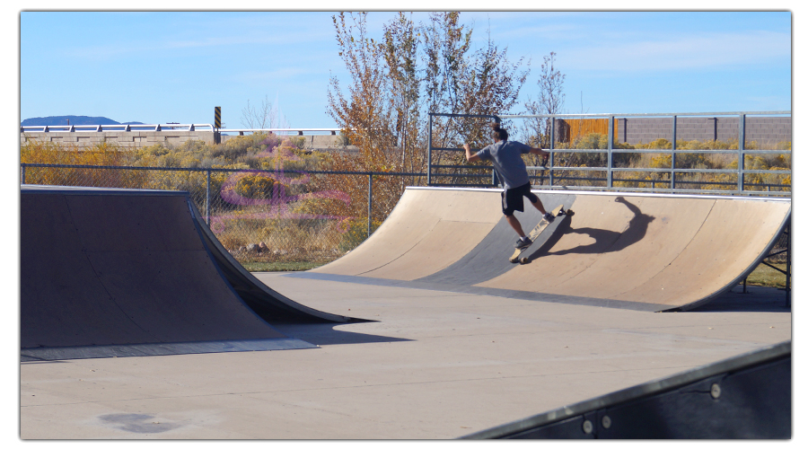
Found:
M 450 119 L 493 119 L 497 122 L 503 119 L 548 119 L 549 121 L 549 148 L 545 148 L 549 152 L 549 161 L 547 165 L 543 166 L 530 166 L 531 171 L 540 172 L 540 175 L 531 176 L 531 180 L 538 180 L 542 184 L 542 188 L 546 189 L 566 189 L 569 186 L 568 181 L 594 183 L 598 185 L 585 186 L 575 185 L 575 189 L 597 189 L 597 190 L 632 190 L 632 191 L 653 191 L 653 192 L 669 192 L 669 193 L 723 193 L 733 195 L 768 195 L 768 196 L 790 196 L 791 185 L 790 183 L 783 182 L 749 182 L 747 181 L 748 175 L 768 175 L 771 178 L 778 178 L 781 176 L 791 176 L 790 164 L 788 170 L 755 170 L 748 169 L 745 166 L 746 156 L 760 155 L 760 154 L 784 154 L 791 155 L 790 150 L 759 150 L 746 148 L 746 119 L 747 116 L 783 116 L 791 115 L 790 111 L 767 111 L 767 112 L 700 112 L 700 113 L 649 113 L 649 114 L 539 114 L 539 115 L 475 115 L 475 114 L 447 114 L 447 113 L 430 113 L 428 124 L 428 154 L 427 154 L 427 184 L 431 186 L 470 186 L 476 185 L 482 187 L 479 183 L 480 178 L 490 179 L 489 186 L 496 186 L 496 172 L 489 165 L 470 165 L 470 164 L 434 164 L 434 152 L 463 152 L 462 148 L 452 146 L 435 146 L 433 145 L 433 121 L 435 117 L 446 117 Z M 728 116 L 738 117 L 738 149 L 725 149 L 725 150 L 712 150 L 712 149 L 680 149 L 677 148 L 677 119 L 681 117 L 716 117 Z M 639 118 L 654 118 L 666 117 L 672 118 L 671 128 L 671 144 L 670 149 L 623 149 L 614 147 L 616 130 L 614 128 L 614 119 L 639 117 Z M 607 134 L 607 147 L 606 148 L 557 148 L 558 144 L 556 138 L 557 132 L 557 119 L 608 119 L 609 130 Z M 557 156 L 559 154 L 603 154 L 605 155 L 605 164 L 603 166 L 563 166 L 557 164 Z M 665 154 L 671 157 L 669 167 L 654 168 L 654 167 L 619 167 L 615 164 L 615 155 L 617 154 Z M 677 167 L 677 156 L 683 157 L 685 154 L 731 154 L 736 157 L 737 167 L 733 169 L 708 169 L 708 168 L 681 168 Z M 473 173 L 463 171 L 474 171 Z M 479 174 L 479 172 L 487 172 Z M 559 183 L 559 173 L 575 173 L 575 175 L 567 175 L 563 177 L 564 182 Z M 582 176 L 586 172 L 600 172 L 605 176 Z M 669 176 L 668 180 L 659 179 L 635 179 L 635 178 L 620 178 L 619 173 L 627 172 L 641 172 L 641 173 L 657 173 L 666 174 Z M 683 179 L 687 175 L 705 174 L 705 175 L 725 175 L 725 177 L 733 176 L 734 181 L 726 180 L 687 180 Z M 465 179 L 467 182 L 437 182 L 435 179 L 450 177 L 454 180 Z M 630 187 L 616 185 L 616 183 L 632 183 L 637 184 Z M 657 187 L 658 184 L 664 184 L 665 187 Z M 648 187 L 639 187 L 639 184 L 651 185 Z M 687 189 L 687 187 L 699 187 L 698 189 Z M 704 187 L 711 187 L 711 189 L 704 189 Z M 734 187 L 734 189 L 729 189 Z

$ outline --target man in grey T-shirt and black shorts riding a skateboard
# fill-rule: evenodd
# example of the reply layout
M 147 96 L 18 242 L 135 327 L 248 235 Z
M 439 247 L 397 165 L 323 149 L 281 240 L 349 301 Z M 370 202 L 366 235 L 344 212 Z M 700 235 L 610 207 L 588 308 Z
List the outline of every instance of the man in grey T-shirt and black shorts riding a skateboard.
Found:
M 502 192 L 502 213 L 505 214 L 508 224 L 519 234 L 519 241 L 516 242 L 515 247 L 524 248 L 531 245 L 532 242 L 524 234 L 522 224 L 514 216 L 514 211 L 524 212 L 523 197 L 530 199 L 533 207 L 539 209 L 548 222 L 552 222 L 554 217 L 544 208 L 539 197 L 531 192 L 531 180 L 528 178 L 522 154 L 547 156 L 549 153 L 541 148 L 532 148 L 521 142 L 509 141 L 508 132 L 504 128 L 500 128 L 498 123 L 492 123 L 491 127 L 494 128 L 492 133 L 494 144 L 486 146 L 474 155 L 471 154 L 469 144 L 463 144 L 463 148 L 466 150 L 466 160 L 471 163 L 475 161 L 494 163 L 494 170 L 505 188 L 505 191 Z

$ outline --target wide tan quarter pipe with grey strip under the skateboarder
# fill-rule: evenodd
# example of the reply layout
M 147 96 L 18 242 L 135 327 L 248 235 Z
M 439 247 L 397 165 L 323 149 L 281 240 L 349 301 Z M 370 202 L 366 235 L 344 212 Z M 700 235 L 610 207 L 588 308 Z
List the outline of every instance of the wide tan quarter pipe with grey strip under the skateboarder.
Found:
M 516 234 L 498 189 L 408 188 L 369 239 L 305 273 L 410 286 L 644 311 L 687 310 L 721 295 L 777 242 L 790 199 L 534 191 L 557 220 L 512 264 Z M 540 221 L 529 203 L 525 233 Z

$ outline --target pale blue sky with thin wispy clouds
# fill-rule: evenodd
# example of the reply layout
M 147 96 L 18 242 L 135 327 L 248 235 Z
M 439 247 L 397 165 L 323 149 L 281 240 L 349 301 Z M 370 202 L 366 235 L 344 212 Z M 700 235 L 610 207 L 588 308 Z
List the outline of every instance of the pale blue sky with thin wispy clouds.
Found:
M 371 37 L 394 13 L 370 13 Z M 343 87 L 330 12 L 20 13 L 20 119 L 104 116 L 242 128 L 265 97 L 296 128 L 332 128 L 329 76 Z M 426 13 L 415 13 L 416 21 Z M 558 54 L 569 113 L 792 109 L 789 12 L 467 12 L 475 45 L 490 32 L 531 59 Z M 518 111 L 518 110 L 515 110 Z

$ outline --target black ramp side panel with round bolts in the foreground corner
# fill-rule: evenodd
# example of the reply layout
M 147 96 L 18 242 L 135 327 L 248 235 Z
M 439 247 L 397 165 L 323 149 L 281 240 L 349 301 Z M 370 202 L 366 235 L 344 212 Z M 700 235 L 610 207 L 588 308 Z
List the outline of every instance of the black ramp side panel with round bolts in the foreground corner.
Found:
M 791 369 L 785 341 L 466 438 L 787 439 Z

